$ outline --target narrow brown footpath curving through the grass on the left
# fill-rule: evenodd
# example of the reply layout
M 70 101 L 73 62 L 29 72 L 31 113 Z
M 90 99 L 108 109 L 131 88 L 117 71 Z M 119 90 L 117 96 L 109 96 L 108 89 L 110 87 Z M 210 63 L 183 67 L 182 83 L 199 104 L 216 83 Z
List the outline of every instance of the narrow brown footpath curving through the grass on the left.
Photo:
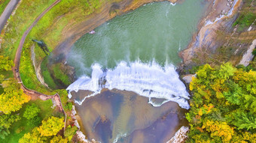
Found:
M 28 88 L 25 87 L 25 85 L 23 85 L 23 82 L 22 80 L 20 79 L 20 71 L 19 71 L 19 67 L 20 67 L 20 56 L 21 56 L 21 52 L 22 52 L 22 49 L 23 49 L 23 44 L 26 40 L 26 36 L 29 34 L 29 31 L 31 31 L 31 29 L 36 25 L 36 23 L 38 22 L 39 19 L 41 19 L 42 16 L 44 16 L 45 13 L 47 13 L 53 6 L 55 6 L 56 4 L 59 3 L 60 0 L 56 0 L 53 2 L 53 4 L 50 5 L 50 7 L 47 7 L 46 10 L 44 10 L 36 19 L 35 21 L 32 23 L 32 25 L 29 26 L 29 28 L 26 29 L 25 33 L 23 34 L 23 37 L 21 38 L 20 40 L 20 44 L 18 46 L 18 49 L 17 49 L 17 52 L 16 52 L 16 55 L 15 55 L 15 58 L 14 58 L 14 64 L 15 66 L 13 67 L 13 73 L 14 73 L 14 77 L 15 79 L 17 79 L 17 81 L 19 83 L 21 83 L 21 88 L 23 89 L 23 92 L 29 96 L 36 96 L 36 97 L 39 97 L 41 100 L 49 100 L 49 99 L 52 99 L 52 100 L 55 100 L 55 103 L 56 103 L 56 106 L 59 107 L 59 109 L 61 111 L 64 112 L 63 108 L 62 108 L 62 103 L 60 101 L 60 97 L 59 97 L 59 94 L 55 94 L 53 96 L 49 96 L 49 95 L 45 95 L 45 94 L 41 94 L 39 93 L 38 91 L 33 91 L 33 90 L 30 90 Z M 64 112 L 65 114 L 65 112 Z

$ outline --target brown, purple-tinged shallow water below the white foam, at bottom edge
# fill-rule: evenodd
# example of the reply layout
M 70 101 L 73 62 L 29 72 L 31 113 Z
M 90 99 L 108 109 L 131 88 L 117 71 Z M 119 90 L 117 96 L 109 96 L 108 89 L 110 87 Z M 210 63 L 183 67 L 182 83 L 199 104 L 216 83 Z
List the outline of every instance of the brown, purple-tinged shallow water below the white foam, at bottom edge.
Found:
M 72 92 L 72 100 L 83 100 L 87 94 L 88 91 Z M 104 89 L 75 107 L 88 139 L 100 142 L 166 142 L 187 125 L 187 110 L 177 103 L 154 107 L 147 97 L 131 91 Z

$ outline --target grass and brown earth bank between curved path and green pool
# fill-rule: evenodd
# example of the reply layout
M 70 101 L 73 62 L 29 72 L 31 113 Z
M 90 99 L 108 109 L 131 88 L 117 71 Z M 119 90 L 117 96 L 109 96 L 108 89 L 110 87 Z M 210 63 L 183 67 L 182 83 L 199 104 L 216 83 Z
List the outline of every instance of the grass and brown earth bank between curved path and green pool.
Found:
M 152 0 L 145 0 L 143 4 L 151 1 Z M 95 2 L 96 1 L 90 3 Z M 32 52 L 30 50 L 30 47 L 32 47 L 35 43 L 33 43 L 29 39 L 25 40 L 24 45 L 26 45 L 27 48 L 23 49 L 24 52 L 22 54 L 22 57 L 26 60 L 21 61 L 21 65 L 23 65 L 23 67 L 29 68 L 29 70 L 22 71 L 22 78 L 31 79 L 31 82 L 35 83 L 35 85 L 42 86 L 41 82 L 38 81 L 37 76 L 35 76 L 34 73 L 30 72 L 32 70 L 36 70 L 40 74 L 44 73 L 44 82 L 51 82 L 51 86 L 49 85 L 51 89 L 66 88 L 68 85 L 63 83 L 66 83 L 67 80 L 74 81 L 72 80 L 72 78 L 69 79 L 68 77 L 72 76 L 73 72 L 72 68 L 69 69 L 62 67 L 67 67 L 65 65 L 66 54 L 69 52 L 68 49 L 70 49 L 72 43 L 75 42 L 75 39 L 78 39 L 82 35 L 93 30 L 93 28 L 96 28 L 98 25 L 101 25 L 106 20 L 111 19 L 114 16 L 120 15 L 122 13 L 126 13 L 126 11 L 128 11 L 127 7 L 130 7 L 129 10 L 132 10 L 132 8 L 139 7 L 142 5 L 142 1 L 113 0 L 103 2 L 101 1 L 100 4 L 96 5 L 96 9 L 92 9 L 91 11 L 89 9 L 89 12 L 88 9 L 86 9 L 87 11 L 85 14 L 82 12 L 84 10 L 81 6 L 71 6 L 74 7 L 74 10 L 70 12 L 65 12 L 62 10 L 59 11 L 59 9 L 62 8 L 66 9 L 66 3 L 68 3 L 68 1 L 60 1 L 59 4 L 56 5 L 56 7 L 53 7 L 52 10 L 46 13 L 46 15 L 42 17 L 41 20 L 38 21 L 38 24 L 35 25 L 35 27 L 32 28 L 32 31 L 30 31 L 29 33 L 29 37 L 33 37 L 34 39 L 38 40 L 43 40 L 44 43 L 46 43 L 50 52 L 53 53 L 53 56 L 50 55 L 50 57 L 47 57 L 47 55 L 45 55 L 44 52 L 41 51 L 38 45 L 36 45 L 35 47 L 35 60 L 37 61 L 35 63 L 41 63 L 41 61 L 45 59 L 47 64 L 44 64 L 41 67 L 41 69 L 46 70 L 38 71 L 37 68 L 30 66 L 30 63 L 26 62 L 27 60 L 31 61 L 31 59 L 29 59 L 29 55 L 31 55 Z M 71 3 L 69 2 L 69 4 Z M 56 11 L 57 14 L 54 11 Z M 68 31 L 72 31 L 72 33 L 69 33 Z M 65 40 L 67 36 L 71 37 Z M 64 40 L 65 42 L 60 44 L 60 42 Z M 41 65 L 36 65 L 35 67 L 39 66 Z M 56 71 L 61 71 L 59 72 L 61 74 L 54 72 L 54 69 Z M 65 78 L 62 79 L 60 77 Z M 29 88 L 35 89 L 35 86 L 29 84 L 29 82 L 24 84 Z M 47 89 L 47 87 L 44 88 Z M 41 89 L 41 91 L 43 90 L 45 91 L 45 89 Z

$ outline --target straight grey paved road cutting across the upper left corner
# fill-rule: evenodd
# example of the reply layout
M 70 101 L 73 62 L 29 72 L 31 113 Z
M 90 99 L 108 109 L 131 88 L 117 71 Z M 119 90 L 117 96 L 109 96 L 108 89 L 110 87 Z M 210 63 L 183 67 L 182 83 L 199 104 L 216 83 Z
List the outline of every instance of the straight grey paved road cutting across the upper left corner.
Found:
M 20 0 L 11 0 L 9 4 L 5 7 L 4 12 L 0 16 L 0 33 L 2 32 L 2 29 L 5 27 L 5 24 L 9 17 L 11 16 L 11 13 L 17 6 Z

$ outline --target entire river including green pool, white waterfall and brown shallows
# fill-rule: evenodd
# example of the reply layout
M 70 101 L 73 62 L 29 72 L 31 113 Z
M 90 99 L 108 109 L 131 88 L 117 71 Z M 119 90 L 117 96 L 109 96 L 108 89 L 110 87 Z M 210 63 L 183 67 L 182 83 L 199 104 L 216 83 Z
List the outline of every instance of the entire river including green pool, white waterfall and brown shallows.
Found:
M 72 46 L 67 62 L 78 80 L 67 90 L 89 139 L 166 142 L 187 124 L 190 95 L 175 69 L 206 7 L 203 0 L 145 4 Z

